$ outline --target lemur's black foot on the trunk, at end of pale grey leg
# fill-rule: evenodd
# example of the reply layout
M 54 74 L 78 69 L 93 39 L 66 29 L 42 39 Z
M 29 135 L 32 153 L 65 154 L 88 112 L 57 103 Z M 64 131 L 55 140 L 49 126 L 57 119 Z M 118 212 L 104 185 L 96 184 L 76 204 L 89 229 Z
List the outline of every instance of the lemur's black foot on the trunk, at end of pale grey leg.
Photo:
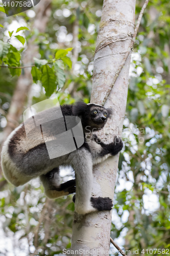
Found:
M 111 210 L 113 207 L 112 200 L 109 197 L 91 197 L 91 204 L 97 210 Z

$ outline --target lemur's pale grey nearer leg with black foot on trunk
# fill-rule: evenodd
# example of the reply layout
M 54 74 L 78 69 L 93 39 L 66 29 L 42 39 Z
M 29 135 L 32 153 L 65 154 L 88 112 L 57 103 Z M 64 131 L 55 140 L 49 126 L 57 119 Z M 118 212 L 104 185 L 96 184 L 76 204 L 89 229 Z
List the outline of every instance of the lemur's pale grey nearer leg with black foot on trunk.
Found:
M 93 198 L 92 192 L 92 159 L 91 153 L 81 148 L 72 157 L 72 167 L 76 173 L 76 198 L 75 210 L 78 214 L 88 214 L 99 210 L 111 210 L 112 200 L 110 198 Z

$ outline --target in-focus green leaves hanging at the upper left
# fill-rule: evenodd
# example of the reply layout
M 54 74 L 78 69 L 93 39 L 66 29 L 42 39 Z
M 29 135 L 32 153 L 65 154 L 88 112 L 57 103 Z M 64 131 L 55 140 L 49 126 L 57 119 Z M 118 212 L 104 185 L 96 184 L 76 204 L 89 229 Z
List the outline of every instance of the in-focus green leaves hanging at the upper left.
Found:
M 27 27 L 20 27 L 16 30 L 16 32 L 26 29 L 29 30 Z M 13 31 L 8 31 L 8 33 L 9 36 L 12 37 Z M 15 38 L 17 38 L 22 43 L 22 45 L 25 44 L 25 38 L 23 36 L 15 35 Z M 34 57 L 35 67 L 33 66 L 31 71 L 33 81 L 41 81 L 42 86 L 45 89 L 46 96 L 50 97 L 57 90 L 57 85 L 58 88 L 62 88 L 64 86 L 65 74 L 63 68 L 60 67 L 61 65 L 57 64 L 57 60 L 61 59 L 64 63 L 66 63 L 66 66 L 71 69 L 72 62 L 70 58 L 66 56 L 71 50 L 72 48 L 68 48 L 66 50 L 58 50 L 54 59 L 51 58 L 47 60 L 37 59 Z M 4 62 L 7 67 L 13 67 L 9 68 L 12 76 L 19 76 L 21 74 L 21 69 L 19 69 L 20 52 L 9 42 L 3 42 L 2 40 L 0 40 L 0 61 L 0 63 Z M 51 67 L 46 65 L 47 63 L 49 63 Z

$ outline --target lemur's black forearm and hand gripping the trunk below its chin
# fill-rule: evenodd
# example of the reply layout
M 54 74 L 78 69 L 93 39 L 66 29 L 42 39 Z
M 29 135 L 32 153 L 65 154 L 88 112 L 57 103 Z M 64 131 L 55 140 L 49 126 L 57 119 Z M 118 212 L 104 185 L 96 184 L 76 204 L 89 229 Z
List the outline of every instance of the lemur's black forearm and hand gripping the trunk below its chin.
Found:
M 111 154 L 112 156 L 115 156 L 119 151 L 123 148 L 123 142 L 120 137 L 114 137 L 113 142 L 109 144 L 105 144 L 101 141 L 101 139 L 96 135 L 93 134 L 92 138 L 96 143 L 100 144 L 102 146 L 102 151 L 99 153 L 99 156 L 103 157 L 107 154 Z

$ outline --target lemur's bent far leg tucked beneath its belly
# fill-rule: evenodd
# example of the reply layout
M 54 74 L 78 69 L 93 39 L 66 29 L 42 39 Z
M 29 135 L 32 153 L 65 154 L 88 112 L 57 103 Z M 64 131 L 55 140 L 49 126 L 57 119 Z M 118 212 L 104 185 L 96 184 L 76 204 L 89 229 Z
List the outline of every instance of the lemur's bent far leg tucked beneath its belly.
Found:
M 45 195 L 48 198 L 58 198 L 76 192 L 76 181 L 69 180 L 60 184 L 59 168 L 54 168 L 51 172 L 40 176 L 44 186 Z

